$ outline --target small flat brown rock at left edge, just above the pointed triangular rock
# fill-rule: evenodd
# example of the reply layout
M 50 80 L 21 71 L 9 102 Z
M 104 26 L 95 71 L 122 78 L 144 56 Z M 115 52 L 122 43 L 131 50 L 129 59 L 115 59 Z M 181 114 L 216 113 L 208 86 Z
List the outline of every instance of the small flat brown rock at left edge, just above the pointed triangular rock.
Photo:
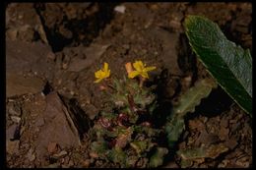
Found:
M 43 81 L 38 78 L 24 78 L 17 74 L 6 74 L 6 95 L 12 97 L 26 93 L 37 93 L 44 87 Z

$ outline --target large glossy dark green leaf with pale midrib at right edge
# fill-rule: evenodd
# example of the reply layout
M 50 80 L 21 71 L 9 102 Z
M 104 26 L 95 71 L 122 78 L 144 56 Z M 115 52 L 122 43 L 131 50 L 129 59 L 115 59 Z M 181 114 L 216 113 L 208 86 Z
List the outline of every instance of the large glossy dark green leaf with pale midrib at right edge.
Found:
M 252 114 L 252 58 L 229 41 L 221 28 L 200 16 L 188 16 L 185 30 L 193 51 L 233 100 Z

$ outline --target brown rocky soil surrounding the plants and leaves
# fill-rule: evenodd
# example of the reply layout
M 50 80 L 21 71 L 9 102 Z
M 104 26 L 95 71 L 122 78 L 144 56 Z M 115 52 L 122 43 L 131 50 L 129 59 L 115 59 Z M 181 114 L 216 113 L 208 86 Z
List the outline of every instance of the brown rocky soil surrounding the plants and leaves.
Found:
M 125 63 L 145 61 L 158 68 L 150 82 L 158 85 L 160 102 L 171 105 L 197 80 L 210 78 L 184 33 L 190 14 L 211 19 L 252 51 L 250 3 L 9 3 L 6 166 L 116 167 L 92 162 L 88 150 L 88 134 L 107 102 L 95 72 L 107 62 L 122 78 Z M 187 167 L 251 167 L 251 124 L 218 87 L 186 118 L 176 149 L 224 143 L 224 153 Z M 161 167 L 180 166 L 174 154 Z

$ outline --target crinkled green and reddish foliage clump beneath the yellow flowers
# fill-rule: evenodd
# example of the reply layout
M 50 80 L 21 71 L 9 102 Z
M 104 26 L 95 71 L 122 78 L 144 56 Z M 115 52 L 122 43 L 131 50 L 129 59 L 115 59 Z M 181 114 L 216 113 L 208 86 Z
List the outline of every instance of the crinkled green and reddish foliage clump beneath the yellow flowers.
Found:
M 120 167 L 157 167 L 168 150 L 158 144 L 163 130 L 151 124 L 156 108 L 152 88 L 135 80 L 113 79 L 112 112 L 100 112 L 93 128 L 91 153 Z

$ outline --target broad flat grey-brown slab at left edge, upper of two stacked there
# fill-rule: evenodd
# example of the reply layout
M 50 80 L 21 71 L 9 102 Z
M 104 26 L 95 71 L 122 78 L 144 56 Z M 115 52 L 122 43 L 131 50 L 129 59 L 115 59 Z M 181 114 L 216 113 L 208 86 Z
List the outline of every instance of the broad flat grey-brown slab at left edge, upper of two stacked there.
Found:
M 23 75 L 32 72 L 50 81 L 54 77 L 55 66 L 54 61 L 47 58 L 51 54 L 51 48 L 41 42 L 29 43 L 7 38 L 6 73 Z

